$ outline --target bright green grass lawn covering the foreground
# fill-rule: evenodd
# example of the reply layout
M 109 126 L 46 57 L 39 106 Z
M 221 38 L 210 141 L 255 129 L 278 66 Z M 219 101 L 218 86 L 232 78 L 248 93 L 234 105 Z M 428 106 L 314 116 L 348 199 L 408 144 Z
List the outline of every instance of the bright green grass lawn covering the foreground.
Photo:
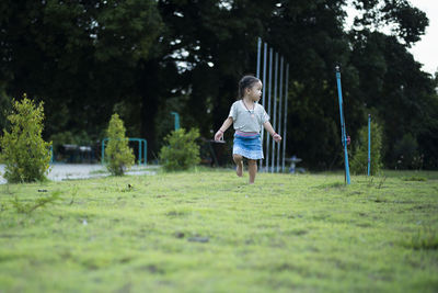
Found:
M 438 172 L 246 180 L 1 185 L 0 292 L 438 291 Z

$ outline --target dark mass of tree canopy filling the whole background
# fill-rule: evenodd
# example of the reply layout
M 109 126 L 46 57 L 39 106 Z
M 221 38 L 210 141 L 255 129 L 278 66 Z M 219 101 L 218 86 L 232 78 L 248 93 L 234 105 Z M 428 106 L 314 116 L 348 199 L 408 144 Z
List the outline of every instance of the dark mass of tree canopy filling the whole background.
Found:
M 371 113 L 383 162 L 424 156 L 438 168 L 437 78 L 407 50 L 426 14 L 407 0 L 5 0 L 0 3 L 0 104 L 23 92 L 45 102 L 47 138 L 102 139 L 114 112 L 158 154 L 173 125 L 210 137 L 254 74 L 262 37 L 290 64 L 287 154 L 312 168 L 342 164 L 334 66 L 355 139 Z M 390 27 L 391 33 L 383 33 Z M 0 113 L 1 127 L 5 126 Z M 65 137 L 65 136 L 64 136 Z M 416 148 L 404 147 L 405 142 Z M 54 142 L 55 143 L 55 142 Z M 67 143 L 67 142 L 66 142 Z

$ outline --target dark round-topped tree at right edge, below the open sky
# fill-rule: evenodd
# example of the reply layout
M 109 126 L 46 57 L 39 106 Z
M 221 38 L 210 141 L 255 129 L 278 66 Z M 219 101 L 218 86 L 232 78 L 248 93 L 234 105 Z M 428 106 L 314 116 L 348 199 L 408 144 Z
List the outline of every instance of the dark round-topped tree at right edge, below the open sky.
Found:
M 377 110 L 382 117 L 384 165 L 395 168 L 399 158 L 394 145 L 406 134 L 411 134 L 414 140 L 422 137 L 418 145 L 422 150 L 418 151 L 428 158 L 426 161 L 436 161 L 437 150 L 429 143 L 437 139 L 434 134 L 437 126 L 433 113 L 437 111 L 437 103 L 433 80 L 420 71 L 420 64 L 395 36 L 369 31 L 362 36 L 353 35 L 351 61 L 360 72 L 361 89 L 355 98 L 361 100 L 369 111 Z M 428 168 L 435 168 L 431 167 L 435 165 L 428 165 Z

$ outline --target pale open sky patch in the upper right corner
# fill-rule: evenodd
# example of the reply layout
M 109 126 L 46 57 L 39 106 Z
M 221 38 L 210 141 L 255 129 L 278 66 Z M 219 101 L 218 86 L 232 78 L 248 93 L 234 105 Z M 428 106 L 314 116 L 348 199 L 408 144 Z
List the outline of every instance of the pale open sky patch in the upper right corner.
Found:
M 438 71 L 438 1 L 437 0 L 410 0 L 413 7 L 424 11 L 429 19 L 426 34 L 422 36 L 410 52 L 415 60 L 423 64 L 422 70 L 434 75 Z

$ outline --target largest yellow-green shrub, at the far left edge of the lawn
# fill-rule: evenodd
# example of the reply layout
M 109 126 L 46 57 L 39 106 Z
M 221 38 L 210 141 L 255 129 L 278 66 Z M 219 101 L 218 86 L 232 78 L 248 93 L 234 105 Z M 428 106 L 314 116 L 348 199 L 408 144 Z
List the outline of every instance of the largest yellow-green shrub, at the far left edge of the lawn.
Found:
M 0 160 L 5 165 L 8 182 L 33 182 L 46 179 L 49 168 L 51 143 L 43 140 L 43 102 L 38 106 L 26 94 L 21 102 L 13 101 L 8 116 L 11 132 L 3 129 L 0 138 Z

